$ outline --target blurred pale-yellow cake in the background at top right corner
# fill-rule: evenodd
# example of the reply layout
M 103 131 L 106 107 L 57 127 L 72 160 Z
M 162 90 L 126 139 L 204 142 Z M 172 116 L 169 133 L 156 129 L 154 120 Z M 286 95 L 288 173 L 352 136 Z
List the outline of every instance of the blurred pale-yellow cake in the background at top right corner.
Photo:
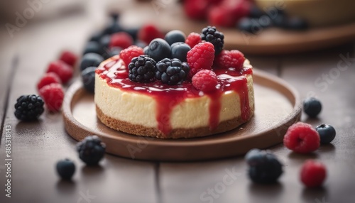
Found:
M 305 18 L 310 26 L 333 26 L 355 21 L 353 0 L 255 0 L 266 10 L 283 9 L 290 16 Z

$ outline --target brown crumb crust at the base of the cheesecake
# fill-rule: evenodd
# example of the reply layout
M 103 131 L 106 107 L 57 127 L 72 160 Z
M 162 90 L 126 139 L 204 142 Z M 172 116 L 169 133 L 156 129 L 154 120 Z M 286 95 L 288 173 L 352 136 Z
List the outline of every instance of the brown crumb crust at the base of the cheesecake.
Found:
M 231 119 L 229 121 L 223 121 L 220 123 L 214 131 L 210 131 L 209 127 L 201 127 L 201 128 L 176 128 L 170 131 L 168 135 L 165 135 L 158 128 L 148 128 L 141 125 L 130 124 L 126 121 L 120 121 L 119 119 L 113 119 L 109 116 L 106 116 L 99 106 L 96 105 L 97 118 L 109 128 L 112 128 L 116 131 L 122 131 L 124 133 L 130 133 L 136 136 L 148 136 L 153 138 L 197 138 L 203 136 L 209 136 L 217 133 L 223 133 L 226 131 L 230 131 L 234 128 L 237 128 L 241 124 L 246 123 L 247 121 L 242 121 L 240 117 Z M 254 109 L 250 111 L 250 117 L 253 116 Z

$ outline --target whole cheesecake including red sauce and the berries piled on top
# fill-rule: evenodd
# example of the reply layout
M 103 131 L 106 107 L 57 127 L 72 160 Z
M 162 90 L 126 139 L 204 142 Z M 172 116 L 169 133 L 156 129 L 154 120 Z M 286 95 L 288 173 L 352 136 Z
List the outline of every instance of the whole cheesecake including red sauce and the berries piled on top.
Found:
M 97 117 L 136 136 L 195 138 L 237 128 L 253 116 L 253 70 L 224 35 L 170 31 L 130 46 L 95 71 Z

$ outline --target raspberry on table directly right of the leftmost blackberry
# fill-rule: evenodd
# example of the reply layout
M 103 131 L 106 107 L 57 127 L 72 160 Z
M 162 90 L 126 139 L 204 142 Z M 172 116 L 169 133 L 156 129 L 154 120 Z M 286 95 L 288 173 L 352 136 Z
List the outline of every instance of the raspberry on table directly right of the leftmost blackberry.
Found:
M 45 101 L 49 111 L 59 111 L 64 99 L 62 85 L 52 83 L 40 88 L 40 97 Z

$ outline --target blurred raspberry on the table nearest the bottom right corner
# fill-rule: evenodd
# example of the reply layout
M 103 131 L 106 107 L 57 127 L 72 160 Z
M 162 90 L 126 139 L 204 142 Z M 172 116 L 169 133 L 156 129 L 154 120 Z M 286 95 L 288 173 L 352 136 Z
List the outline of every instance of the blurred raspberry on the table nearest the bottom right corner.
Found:
M 316 160 L 306 160 L 300 172 L 301 181 L 307 187 L 319 187 L 327 177 L 327 169 Z

